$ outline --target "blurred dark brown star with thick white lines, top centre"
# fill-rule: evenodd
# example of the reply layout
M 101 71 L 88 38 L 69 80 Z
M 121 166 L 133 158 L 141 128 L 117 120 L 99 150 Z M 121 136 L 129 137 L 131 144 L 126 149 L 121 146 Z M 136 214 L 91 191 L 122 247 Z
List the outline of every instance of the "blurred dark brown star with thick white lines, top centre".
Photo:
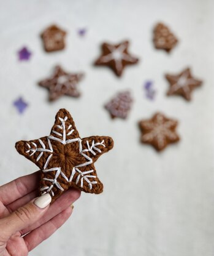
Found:
M 109 66 L 117 76 L 121 76 L 125 66 L 134 65 L 138 62 L 138 58 L 133 57 L 128 52 L 128 41 L 120 44 L 102 44 L 102 55 L 99 57 L 95 65 Z

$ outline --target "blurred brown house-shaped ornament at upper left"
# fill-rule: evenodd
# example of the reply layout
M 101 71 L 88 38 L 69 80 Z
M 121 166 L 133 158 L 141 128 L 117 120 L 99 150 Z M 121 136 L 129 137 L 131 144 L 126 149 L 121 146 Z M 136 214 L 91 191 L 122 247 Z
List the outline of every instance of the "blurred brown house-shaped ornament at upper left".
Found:
M 58 26 L 48 26 L 48 28 L 41 34 L 45 51 L 55 52 L 56 50 L 63 50 L 65 47 L 65 36 L 66 31 L 61 30 Z

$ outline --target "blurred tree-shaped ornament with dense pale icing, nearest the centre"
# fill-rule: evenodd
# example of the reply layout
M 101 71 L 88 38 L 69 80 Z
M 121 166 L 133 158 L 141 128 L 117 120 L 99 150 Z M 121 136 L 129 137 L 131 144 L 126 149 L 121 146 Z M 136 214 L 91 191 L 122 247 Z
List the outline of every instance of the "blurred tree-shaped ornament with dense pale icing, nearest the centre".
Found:
M 119 92 L 105 105 L 112 118 L 126 119 L 131 110 L 132 97 L 129 91 Z

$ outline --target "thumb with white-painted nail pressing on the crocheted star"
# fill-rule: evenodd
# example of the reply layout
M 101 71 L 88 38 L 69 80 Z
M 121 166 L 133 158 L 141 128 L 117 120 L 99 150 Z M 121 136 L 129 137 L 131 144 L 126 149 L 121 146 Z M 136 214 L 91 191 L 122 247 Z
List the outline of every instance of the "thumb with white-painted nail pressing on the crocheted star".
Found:
M 6 242 L 12 234 L 28 228 L 29 225 L 39 220 L 47 211 L 51 201 L 50 194 L 44 194 L 0 219 L 1 239 Z

